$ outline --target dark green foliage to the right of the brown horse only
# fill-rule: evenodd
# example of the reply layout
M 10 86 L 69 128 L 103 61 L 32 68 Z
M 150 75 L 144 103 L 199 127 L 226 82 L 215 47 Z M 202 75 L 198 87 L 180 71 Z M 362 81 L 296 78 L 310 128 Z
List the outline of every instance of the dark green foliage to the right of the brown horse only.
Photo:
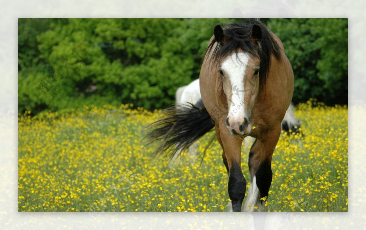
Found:
M 347 104 L 347 19 L 272 19 L 295 75 L 293 101 Z

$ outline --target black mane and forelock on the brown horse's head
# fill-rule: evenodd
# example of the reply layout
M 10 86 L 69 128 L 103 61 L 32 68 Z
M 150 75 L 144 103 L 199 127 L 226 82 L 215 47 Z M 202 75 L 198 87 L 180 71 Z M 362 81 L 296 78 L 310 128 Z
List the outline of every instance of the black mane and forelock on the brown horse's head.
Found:
M 261 28 L 261 40 L 259 46 L 252 38 L 253 25 Z M 280 46 L 273 39 L 270 30 L 257 19 L 249 19 L 241 23 L 231 23 L 223 27 L 225 42 L 220 43 L 213 49 L 216 40 L 213 39 L 206 51 L 206 54 L 212 52 L 211 61 L 217 62 L 221 58 L 226 57 L 232 51 L 236 53 L 239 50 L 250 55 L 258 57 L 261 60 L 259 65 L 259 85 L 263 87 L 270 67 L 270 56 L 274 54 L 277 60 L 280 60 Z

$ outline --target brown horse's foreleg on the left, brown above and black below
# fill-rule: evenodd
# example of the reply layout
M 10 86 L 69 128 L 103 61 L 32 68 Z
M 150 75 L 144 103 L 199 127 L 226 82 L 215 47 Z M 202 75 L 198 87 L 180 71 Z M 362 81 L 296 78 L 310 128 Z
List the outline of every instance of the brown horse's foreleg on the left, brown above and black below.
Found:
M 231 135 L 225 125 L 222 128 L 220 126 L 220 137 L 229 171 L 228 193 L 232 211 L 238 212 L 242 207 L 247 184 L 240 167 L 243 139 Z

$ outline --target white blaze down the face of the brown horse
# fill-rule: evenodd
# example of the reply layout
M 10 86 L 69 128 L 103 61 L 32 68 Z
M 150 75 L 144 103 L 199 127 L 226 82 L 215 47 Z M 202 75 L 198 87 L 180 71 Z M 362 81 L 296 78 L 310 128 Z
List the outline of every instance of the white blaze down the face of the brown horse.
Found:
M 231 127 L 236 130 L 242 124 L 243 119 L 247 118 L 248 114 L 245 114 L 244 106 L 244 75 L 247 69 L 248 61 L 250 57 L 246 53 L 233 53 L 228 56 L 221 64 L 221 70 L 224 72 L 224 90 L 229 100 L 228 102 L 229 112 L 228 117 Z M 231 88 L 231 92 L 230 89 Z M 238 130 L 236 132 L 239 133 Z

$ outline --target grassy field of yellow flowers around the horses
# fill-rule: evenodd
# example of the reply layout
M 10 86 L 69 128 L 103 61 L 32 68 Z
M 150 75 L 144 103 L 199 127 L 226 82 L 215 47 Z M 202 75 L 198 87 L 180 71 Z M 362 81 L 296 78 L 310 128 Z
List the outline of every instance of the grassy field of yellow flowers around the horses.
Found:
M 174 163 L 141 142 L 161 111 L 104 106 L 19 114 L 19 211 L 224 211 L 228 176 L 207 133 Z M 282 133 L 269 211 L 347 211 L 347 107 L 296 107 L 302 136 Z M 242 169 L 250 185 L 244 140 Z

